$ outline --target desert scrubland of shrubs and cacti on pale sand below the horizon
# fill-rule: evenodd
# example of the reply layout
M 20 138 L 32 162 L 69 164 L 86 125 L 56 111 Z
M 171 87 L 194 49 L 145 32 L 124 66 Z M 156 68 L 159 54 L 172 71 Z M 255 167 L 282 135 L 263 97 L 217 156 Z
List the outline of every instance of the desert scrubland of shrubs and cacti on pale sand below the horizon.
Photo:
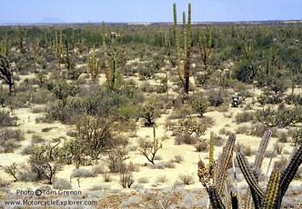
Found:
M 0 28 L 1 196 L 49 186 L 100 208 L 301 206 L 302 25 L 174 15 Z

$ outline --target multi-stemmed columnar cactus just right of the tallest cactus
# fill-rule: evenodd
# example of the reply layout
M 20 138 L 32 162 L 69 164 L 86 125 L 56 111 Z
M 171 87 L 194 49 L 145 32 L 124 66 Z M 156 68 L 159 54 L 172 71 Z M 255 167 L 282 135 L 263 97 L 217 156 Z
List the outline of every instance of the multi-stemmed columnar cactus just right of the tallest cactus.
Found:
M 207 34 L 205 31 L 201 31 L 198 34 L 199 51 L 205 70 L 207 68 L 208 58 L 212 54 L 212 41 L 213 35 L 211 30 L 209 30 Z

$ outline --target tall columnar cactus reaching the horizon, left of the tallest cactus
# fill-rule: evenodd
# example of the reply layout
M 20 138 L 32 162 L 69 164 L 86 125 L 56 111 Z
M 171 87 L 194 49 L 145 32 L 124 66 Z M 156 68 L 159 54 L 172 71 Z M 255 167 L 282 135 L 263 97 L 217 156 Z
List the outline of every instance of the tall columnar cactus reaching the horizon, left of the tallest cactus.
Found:
M 106 44 L 106 25 L 103 23 L 102 25 L 102 42 L 103 42 L 103 55 L 104 55 L 104 63 L 105 63 L 105 75 L 107 85 L 110 89 L 115 88 L 116 83 L 116 51 L 114 47 L 112 47 L 111 56 L 113 58 L 113 65 L 109 65 L 108 60 L 108 52 L 107 52 L 107 44 Z

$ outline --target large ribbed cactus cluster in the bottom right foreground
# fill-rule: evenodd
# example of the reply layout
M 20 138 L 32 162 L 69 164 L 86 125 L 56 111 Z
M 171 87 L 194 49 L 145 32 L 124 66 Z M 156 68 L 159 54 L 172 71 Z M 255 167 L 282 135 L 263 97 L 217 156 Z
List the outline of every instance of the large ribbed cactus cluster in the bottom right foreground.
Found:
M 277 170 L 277 168 L 273 169 L 267 183 L 267 188 L 263 190 L 258 184 L 258 176 L 261 173 L 261 165 L 271 134 L 271 131 L 266 131 L 263 135 L 253 167 L 249 166 L 246 157 L 242 153 L 237 153 L 237 163 L 249 186 L 244 208 L 252 208 L 252 204 L 254 204 L 257 209 L 280 208 L 287 188 L 297 173 L 298 167 L 302 164 L 302 145 L 300 145 L 292 155 L 284 171 Z M 213 135 L 211 134 L 211 138 L 212 137 Z M 212 143 L 213 140 L 210 140 L 210 144 Z M 234 144 L 235 136 L 230 135 L 217 164 L 211 163 L 214 162 L 214 148 L 211 145 L 209 167 L 206 167 L 202 160 L 198 162 L 199 181 L 206 188 L 213 208 L 239 208 L 239 203 L 242 201 L 237 198 L 236 194 L 231 193 L 228 196 L 226 188 L 224 187 L 226 184 L 228 164 L 233 155 Z M 233 166 L 235 166 L 234 163 Z M 253 202 L 251 202 L 251 197 Z

